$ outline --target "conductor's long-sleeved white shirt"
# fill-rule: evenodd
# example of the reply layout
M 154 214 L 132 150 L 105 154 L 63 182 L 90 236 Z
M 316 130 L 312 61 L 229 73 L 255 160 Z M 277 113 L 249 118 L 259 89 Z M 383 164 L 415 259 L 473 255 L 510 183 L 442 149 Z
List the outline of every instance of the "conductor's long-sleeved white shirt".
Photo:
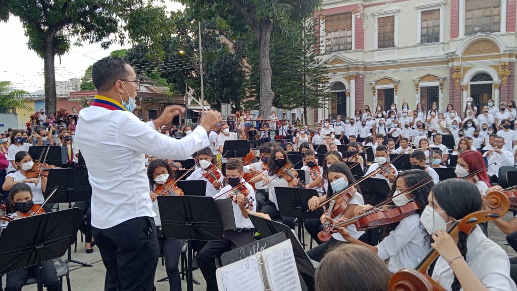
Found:
M 74 142 L 88 167 L 92 226 L 96 228 L 156 215 L 143 153 L 183 160 L 208 147 L 208 136 L 201 126 L 175 139 L 158 133 L 153 122 L 146 124 L 128 111 L 90 106 L 81 110 L 79 119 Z

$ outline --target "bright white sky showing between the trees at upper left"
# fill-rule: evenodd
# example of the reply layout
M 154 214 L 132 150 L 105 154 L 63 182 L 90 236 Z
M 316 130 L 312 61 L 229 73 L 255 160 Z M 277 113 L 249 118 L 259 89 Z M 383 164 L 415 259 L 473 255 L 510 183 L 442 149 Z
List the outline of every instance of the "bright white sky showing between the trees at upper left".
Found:
M 168 10 L 183 9 L 180 3 L 165 1 Z M 27 47 L 28 38 L 24 35 L 22 23 L 17 17 L 11 16 L 9 22 L 0 22 L 0 81 L 11 81 L 13 89 L 34 92 L 43 88 L 43 59 Z M 72 39 L 72 42 L 74 40 Z M 82 43 L 82 47 L 74 47 L 65 55 L 55 57 L 57 81 L 67 81 L 70 78 L 81 78 L 84 70 L 95 61 L 108 56 L 111 51 L 131 48 L 113 45 L 108 50 L 100 47 L 100 43 L 90 45 Z

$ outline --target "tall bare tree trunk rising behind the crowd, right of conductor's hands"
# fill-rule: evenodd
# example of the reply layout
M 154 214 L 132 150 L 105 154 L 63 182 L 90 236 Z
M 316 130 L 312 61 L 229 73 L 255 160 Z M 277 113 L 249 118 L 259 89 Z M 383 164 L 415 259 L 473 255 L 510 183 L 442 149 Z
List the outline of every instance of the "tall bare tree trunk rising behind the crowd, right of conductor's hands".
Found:
M 271 89 L 271 64 L 269 62 L 269 48 L 271 45 L 271 30 L 273 23 L 270 20 L 261 21 L 258 27 L 258 69 L 260 70 L 260 107 L 258 113 L 269 119 L 273 106 L 273 90 Z

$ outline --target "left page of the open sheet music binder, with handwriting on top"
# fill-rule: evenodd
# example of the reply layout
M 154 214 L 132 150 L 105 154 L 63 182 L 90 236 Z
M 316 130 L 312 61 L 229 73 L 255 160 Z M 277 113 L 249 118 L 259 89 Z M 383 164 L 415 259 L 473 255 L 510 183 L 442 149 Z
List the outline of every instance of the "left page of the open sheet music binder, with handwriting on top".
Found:
M 216 271 L 217 286 L 221 291 L 264 291 L 261 271 L 256 256 L 250 256 Z M 244 288 L 244 286 L 246 286 Z

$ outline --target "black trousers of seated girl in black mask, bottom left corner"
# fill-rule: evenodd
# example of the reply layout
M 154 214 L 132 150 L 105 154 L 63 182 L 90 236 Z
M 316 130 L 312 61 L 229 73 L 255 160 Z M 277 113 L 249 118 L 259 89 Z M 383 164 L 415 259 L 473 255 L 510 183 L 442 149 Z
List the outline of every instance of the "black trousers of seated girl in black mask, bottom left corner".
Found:
M 48 291 L 61 291 L 61 284 L 57 279 L 56 268 L 51 260 L 41 263 L 43 267 L 41 277 L 43 278 L 43 286 L 47 287 Z M 27 281 L 29 275 L 37 276 L 38 266 L 32 266 L 21 270 L 16 270 L 7 273 L 7 280 L 5 284 L 5 291 L 20 291 Z

